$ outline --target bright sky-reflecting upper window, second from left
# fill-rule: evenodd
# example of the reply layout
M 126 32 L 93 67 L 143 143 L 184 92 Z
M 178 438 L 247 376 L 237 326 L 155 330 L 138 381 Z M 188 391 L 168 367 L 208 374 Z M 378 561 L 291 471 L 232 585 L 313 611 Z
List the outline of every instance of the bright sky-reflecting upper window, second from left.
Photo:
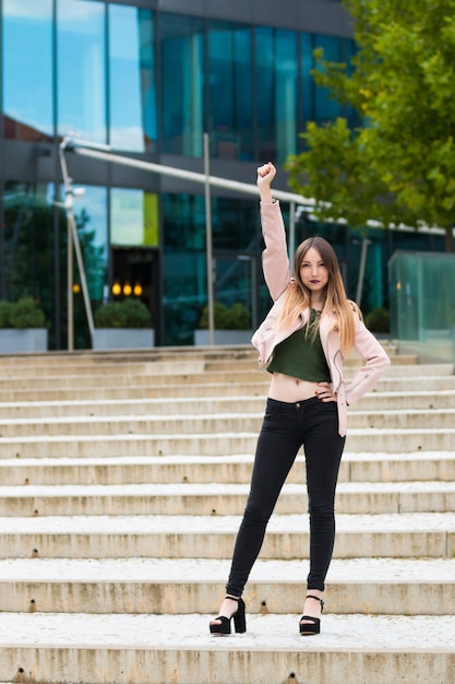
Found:
M 103 3 L 58 0 L 57 70 L 59 134 L 107 142 Z

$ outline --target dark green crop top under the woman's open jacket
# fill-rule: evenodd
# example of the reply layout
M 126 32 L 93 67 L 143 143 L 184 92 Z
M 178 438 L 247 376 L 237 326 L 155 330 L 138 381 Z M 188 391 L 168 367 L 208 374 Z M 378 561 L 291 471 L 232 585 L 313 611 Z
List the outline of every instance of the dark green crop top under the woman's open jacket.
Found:
M 311 328 L 318 319 L 319 312 L 311 309 L 308 334 L 307 326 L 303 326 L 276 345 L 273 358 L 267 366 L 270 373 L 283 373 L 309 382 L 331 381 L 331 372 L 322 349 L 319 329 L 312 341 Z

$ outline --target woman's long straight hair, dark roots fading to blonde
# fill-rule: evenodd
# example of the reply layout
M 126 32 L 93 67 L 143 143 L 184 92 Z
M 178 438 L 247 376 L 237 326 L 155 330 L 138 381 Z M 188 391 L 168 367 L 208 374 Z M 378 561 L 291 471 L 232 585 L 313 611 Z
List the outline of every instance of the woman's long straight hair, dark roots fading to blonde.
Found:
M 278 327 L 291 327 L 302 310 L 311 305 L 311 291 L 303 284 L 300 276 L 300 266 L 311 247 L 319 252 L 321 261 L 323 261 L 328 271 L 322 315 L 330 315 L 335 318 L 334 327 L 339 331 L 342 351 L 347 352 L 352 347 L 355 339 L 352 311 L 356 311 L 360 318 L 361 312 L 358 306 L 347 298 L 338 259 L 332 245 L 323 237 L 309 237 L 298 246 L 294 258 L 295 278 L 287 288 L 283 309 L 278 317 Z

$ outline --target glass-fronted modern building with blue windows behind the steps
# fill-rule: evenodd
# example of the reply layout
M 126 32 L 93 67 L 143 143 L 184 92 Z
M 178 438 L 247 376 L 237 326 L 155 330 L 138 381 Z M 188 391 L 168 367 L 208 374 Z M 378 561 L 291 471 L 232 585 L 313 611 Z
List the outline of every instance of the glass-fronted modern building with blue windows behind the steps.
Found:
M 59 144 L 65 135 L 119 154 L 254 182 L 258 163 L 299 152 L 308 120 L 354 114 L 316 87 L 313 50 L 348 61 L 350 23 L 336 0 L 288 0 L 279 16 L 259 0 L 0 0 L 0 298 L 32 295 L 50 347 L 67 346 L 67 219 Z M 192 344 L 207 303 L 204 189 L 185 179 L 68 153 L 84 188 L 75 217 L 93 310 L 124 285 L 151 309 L 157 344 Z M 287 189 L 286 175 L 277 187 Z M 287 207 L 284 205 L 285 213 Z M 213 190 L 215 298 L 241 302 L 254 327 L 270 302 L 258 201 Z M 327 237 L 356 294 L 361 239 L 310 220 L 297 239 Z M 364 310 L 387 305 L 395 249 L 443 249 L 442 238 L 370 231 Z M 75 273 L 77 270 L 75 268 Z M 89 346 L 74 288 L 75 346 Z M 120 294 L 113 294 L 115 292 Z

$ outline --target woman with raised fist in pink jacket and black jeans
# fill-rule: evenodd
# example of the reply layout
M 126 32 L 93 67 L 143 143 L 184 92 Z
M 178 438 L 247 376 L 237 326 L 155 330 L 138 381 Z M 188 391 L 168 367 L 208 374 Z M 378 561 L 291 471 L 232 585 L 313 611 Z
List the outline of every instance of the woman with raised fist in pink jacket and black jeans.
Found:
M 301 635 L 319 634 L 325 576 L 335 540 L 334 499 L 345 446 L 347 405 L 378 381 L 390 364 L 364 327 L 358 307 L 346 297 L 335 252 L 322 237 L 310 237 L 295 255 L 290 275 L 279 203 L 272 199 L 276 169 L 258 169 L 265 241 L 264 278 L 274 305 L 253 335 L 260 365 L 272 373 L 266 412 L 258 440 L 251 490 L 234 551 L 214 635 L 246 632 L 241 598 L 261 550 L 268 519 L 286 476 L 303 445 L 310 514 L 310 571 L 299 622 Z M 364 359 L 345 387 L 343 357 L 355 349 Z

